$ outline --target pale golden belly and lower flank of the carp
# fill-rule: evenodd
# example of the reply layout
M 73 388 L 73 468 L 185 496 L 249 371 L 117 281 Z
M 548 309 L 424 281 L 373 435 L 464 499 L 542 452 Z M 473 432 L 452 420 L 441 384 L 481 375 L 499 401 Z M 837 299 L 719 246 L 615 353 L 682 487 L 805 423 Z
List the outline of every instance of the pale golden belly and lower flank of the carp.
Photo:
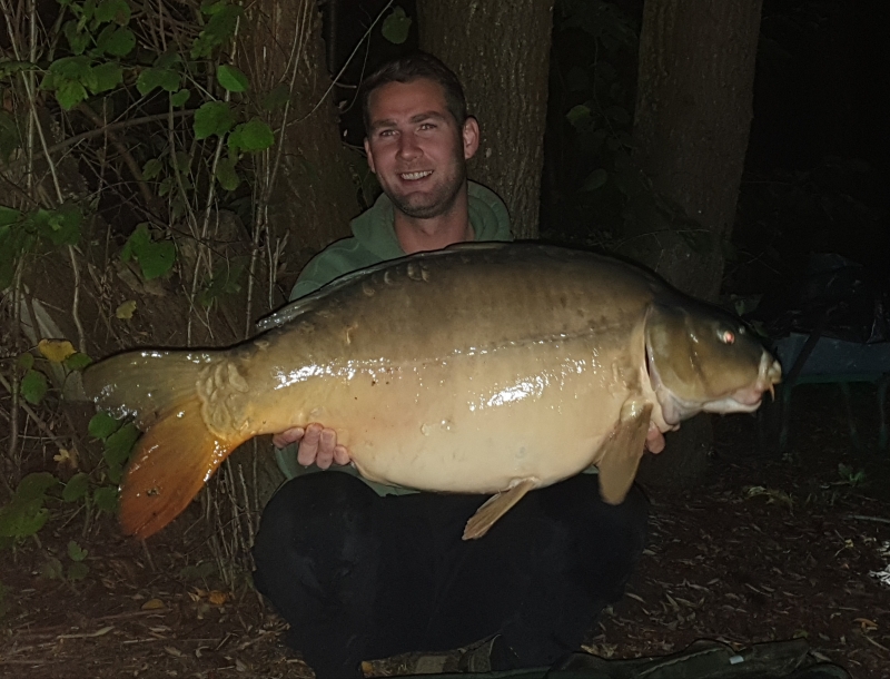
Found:
M 344 365 L 280 402 L 300 402 L 291 424 L 335 429 L 373 481 L 479 493 L 518 479 L 543 486 L 596 461 L 622 403 L 639 391 L 634 353 L 602 356 L 582 337 Z

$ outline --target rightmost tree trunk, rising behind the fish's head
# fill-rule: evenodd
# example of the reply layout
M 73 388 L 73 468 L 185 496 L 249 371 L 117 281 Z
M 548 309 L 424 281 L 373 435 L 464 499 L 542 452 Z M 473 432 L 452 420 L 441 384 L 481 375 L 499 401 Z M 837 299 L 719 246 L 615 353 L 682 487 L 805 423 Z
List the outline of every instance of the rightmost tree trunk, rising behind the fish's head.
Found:
M 711 301 L 751 128 L 760 11 L 761 0 L 647 0 L 643 10 L 634 159 L 652 193 L 634 201 L 623 253 Z M 708 416 L 683 430 L 646 455 L 643 481 L 686 485 L 700 476 Z

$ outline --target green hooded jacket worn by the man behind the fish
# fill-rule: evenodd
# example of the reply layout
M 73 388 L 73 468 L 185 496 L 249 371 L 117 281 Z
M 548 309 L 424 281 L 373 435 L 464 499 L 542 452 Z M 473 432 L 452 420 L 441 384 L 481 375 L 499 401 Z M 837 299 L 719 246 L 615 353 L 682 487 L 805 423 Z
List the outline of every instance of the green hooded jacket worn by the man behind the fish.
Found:
M 473 227 L 475 240 L 512 240 L 510 216 L 501 198 L 484 186 L 472 181 L 468 184 L 467 193 L 469 224 Z M 314 293 L 345 274 L 405 256 L 405 252 L 396 238 L 393 203 L 386 194 L 380 194 L 374 206 L 353 219 L 350 226 L 353 229 L 350 237 L 327 246 L 300 272 L 299 278 L 290 292 L 291 301 Z M 278 468 L 288 479 L 319 471 L 315 464 L 304 468 L 297 462 L 295 445 L 276 450 L 275 455 Z M 358 474 L 352 465 L 338 466 L 335 464 L 330 469 Z M 403 488 L 373 483 L 366 479 L 363 481 L 380 495 L 414 492 Z

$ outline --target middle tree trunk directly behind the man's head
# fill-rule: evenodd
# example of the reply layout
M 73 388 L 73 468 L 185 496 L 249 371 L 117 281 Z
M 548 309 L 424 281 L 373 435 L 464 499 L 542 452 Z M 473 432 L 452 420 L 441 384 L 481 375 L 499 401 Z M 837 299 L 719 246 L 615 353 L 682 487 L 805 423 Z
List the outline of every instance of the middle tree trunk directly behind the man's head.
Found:
M 421 49 L 457 73 L 479 120 L 471 178 L 504 199 L 515 237 L 537 237 L 553 0 L 426 0 L 417 14 Z

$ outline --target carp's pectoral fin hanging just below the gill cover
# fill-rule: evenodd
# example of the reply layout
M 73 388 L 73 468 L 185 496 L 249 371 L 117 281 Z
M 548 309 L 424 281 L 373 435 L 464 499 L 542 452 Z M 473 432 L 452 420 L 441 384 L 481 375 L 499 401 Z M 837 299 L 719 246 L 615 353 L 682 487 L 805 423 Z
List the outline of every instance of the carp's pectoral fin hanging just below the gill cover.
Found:
M 651 403 L 625 402 L 619 425 L 603 445 L 596 466 L 600 469 L 600 494 L 609 504 L 621 504 L 631 489 L 645 452 L 651 415 Z

